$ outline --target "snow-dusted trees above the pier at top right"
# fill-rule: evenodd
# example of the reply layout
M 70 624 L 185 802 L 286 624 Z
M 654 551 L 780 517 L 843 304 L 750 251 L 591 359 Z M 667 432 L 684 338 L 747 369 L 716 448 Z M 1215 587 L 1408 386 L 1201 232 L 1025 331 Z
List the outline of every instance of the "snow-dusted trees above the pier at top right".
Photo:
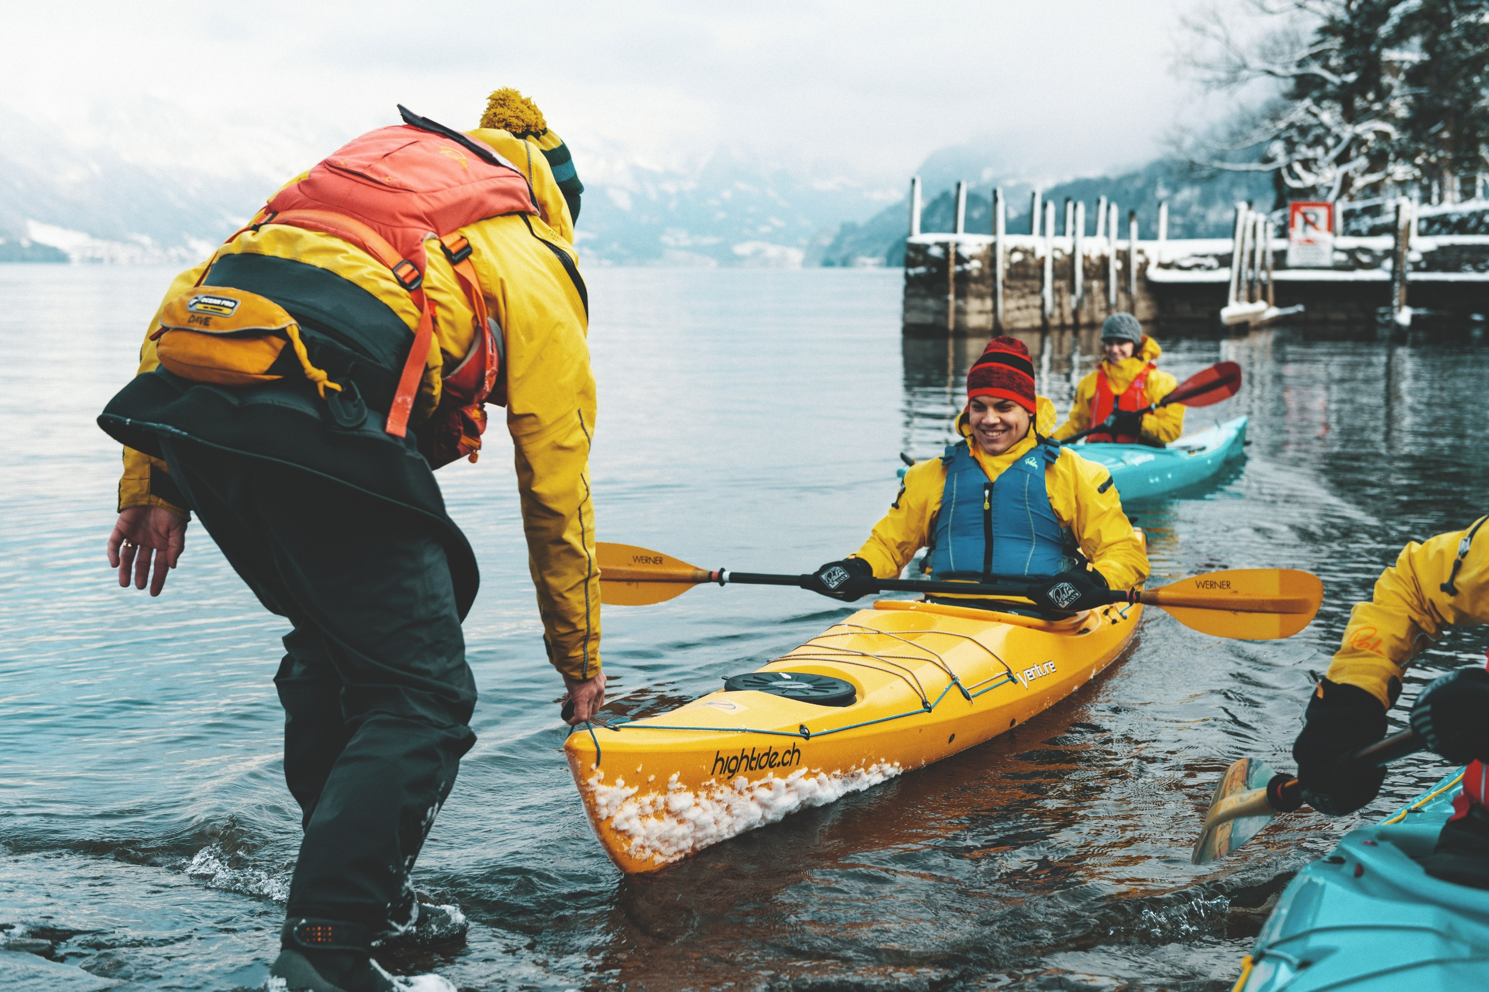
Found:
M 1489 150 L 1489 0 L 1249 0 L 1249 9 L 1264 25 L 1249 36 L 1219 9 L 1190 22 L 1200 42 L 1190 67 L 1254 101 L 1197 158 L 1270 171 L 1279 205 L 1474 195 Z M 1242 149 L 1260 155 L 1237 161 Z

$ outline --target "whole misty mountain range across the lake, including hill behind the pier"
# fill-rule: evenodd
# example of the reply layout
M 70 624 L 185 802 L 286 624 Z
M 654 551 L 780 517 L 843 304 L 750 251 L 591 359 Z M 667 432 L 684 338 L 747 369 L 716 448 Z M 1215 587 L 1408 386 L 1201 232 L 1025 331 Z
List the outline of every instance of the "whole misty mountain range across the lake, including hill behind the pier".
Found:
M 217 153 L 192 156 L 189 119 L 153 107 L 146 119 L 103 120 L 77 132 L 49 129 L 0 110 L 0 260 L 180 263 L 203 259 L 244 223 L 280 183 L 350 134 L 301 129 L 262 141 L 249 125 L 213 135 Z M 124 135 L 146 131 L 150 153 Z M 222 156 L 220 146 L 250 155 Z M 1027 229 L 1027 193 L 1096 199 L 1139 210 L 1151 233 L 1169 199 L 1173 236 L 1224 233 L 1236 199 L 1270 196 L 1255 174 L 1199 180 L 1175 162 L 1115 170 L 1112 178 L 1068 178 L 1078 167 L 1023 162 L 1013 143 L 984 138 L 931 152 L 925 231 L 950 231 L 957 178 L 971 183 L 968 231 L 989 229 L 989 198 L 1002 184 L 1010 231 Z M 130 153 L 125 153 L 125 152 Z M 575 149 L 585 181 L 578 247 L 587 265 L 776 266 L 898 265 L 907 229 L 905 181 L 853 175 L 826 161 L 782 162 L 749 147 L 721 147 L 695 165 L 661 165 L 624 150 Z M 1063 174 L 1062 174 L 1063 173 Z M 1126 214 L 1124 214 L 1126 217 Z M 1094 228 L 1094 216 L 1090 217 Z

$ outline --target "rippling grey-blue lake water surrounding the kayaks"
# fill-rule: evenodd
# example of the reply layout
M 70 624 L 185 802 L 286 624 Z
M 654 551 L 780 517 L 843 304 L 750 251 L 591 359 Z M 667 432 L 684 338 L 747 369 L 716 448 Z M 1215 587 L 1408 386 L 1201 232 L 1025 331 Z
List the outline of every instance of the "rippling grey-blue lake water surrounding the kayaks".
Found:
M 103 556 L 119 454 L 92 418 L 170 275 L 0 266 L 0 925 L 119 989 L 256 988 L 299 840 L 271 683 L 284 625 L 200 526 L 155 601 Z M 810 571 L 858 547 L 898 452 L 938 452 L 960 406 L 968 348 L 901 338 L 898 272 L 587 275 L 603 540 Z M 1356 819 L 1282 818 L 1197 869 L 1199 812 L 1237 757 L 1291 766 L 1310 671 L 1397 549 L 1486 512 L 1489 352 L 1286 330 L 1163 344 L 1179 378 L 1242 363 L 1242 393 L 1190 422 L 1248 413 L 1254 443 L 1208 489 L 1129 507 L 1155 580 L 1307 568 L 1318 622 L 1240 642 L 1150 611 L 1124 660 L 1017 732 L 654 876 L 610 866 L 560 753 L 509 443 L 497 427 L 478 466 L 442 470 L 484 573 L 479 741 L 415 882 L 472 928 L 393 964 L 469 989 L 1228 989 L 1248 907 Z M 1062 412 L 1068 372 L 1041 384 Z M 710 692 L 846 613 L 733 586 L 606 610 L 612 711 Z M 1435 645 L 1407 698 L 1482 641 Z M 1443 770 L 1397 766 L 1361 817 Z

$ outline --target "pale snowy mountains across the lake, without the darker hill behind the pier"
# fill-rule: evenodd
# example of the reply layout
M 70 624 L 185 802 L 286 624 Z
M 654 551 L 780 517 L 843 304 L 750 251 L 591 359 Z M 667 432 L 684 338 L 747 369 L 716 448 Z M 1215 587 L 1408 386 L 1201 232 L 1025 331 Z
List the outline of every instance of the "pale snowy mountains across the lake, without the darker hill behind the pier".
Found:
M 277 147 L 223 170 L 162 153 L 189 146 L 174 119 L 135 122 L 133 134 L 152 138 L 149 158 L 115 150 L 135 144 L 124 126 L 83 141 L 0 110 L 0 262 L 194 262 L 313 159 Z M 329 150 L 345 135 L 296 137 Z M 247 129 L 225 140 L 261 150 Z M 740 150 L 691 168 L 582 152 L 576 164 L 587 186 L 578 247 L 590 265 L 816 265 L 840 223 L 902 195 Z

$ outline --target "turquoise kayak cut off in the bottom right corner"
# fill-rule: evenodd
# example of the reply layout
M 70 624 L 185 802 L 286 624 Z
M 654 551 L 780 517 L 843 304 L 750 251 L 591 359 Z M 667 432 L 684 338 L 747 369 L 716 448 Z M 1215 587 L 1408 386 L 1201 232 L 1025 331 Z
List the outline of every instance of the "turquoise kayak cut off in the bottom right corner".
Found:
M 1462 772 L 1298 872 L 1242 962 L 1234 992 L 1489 988 L 1489 891 L 1434 879 L 1431 854 Z

